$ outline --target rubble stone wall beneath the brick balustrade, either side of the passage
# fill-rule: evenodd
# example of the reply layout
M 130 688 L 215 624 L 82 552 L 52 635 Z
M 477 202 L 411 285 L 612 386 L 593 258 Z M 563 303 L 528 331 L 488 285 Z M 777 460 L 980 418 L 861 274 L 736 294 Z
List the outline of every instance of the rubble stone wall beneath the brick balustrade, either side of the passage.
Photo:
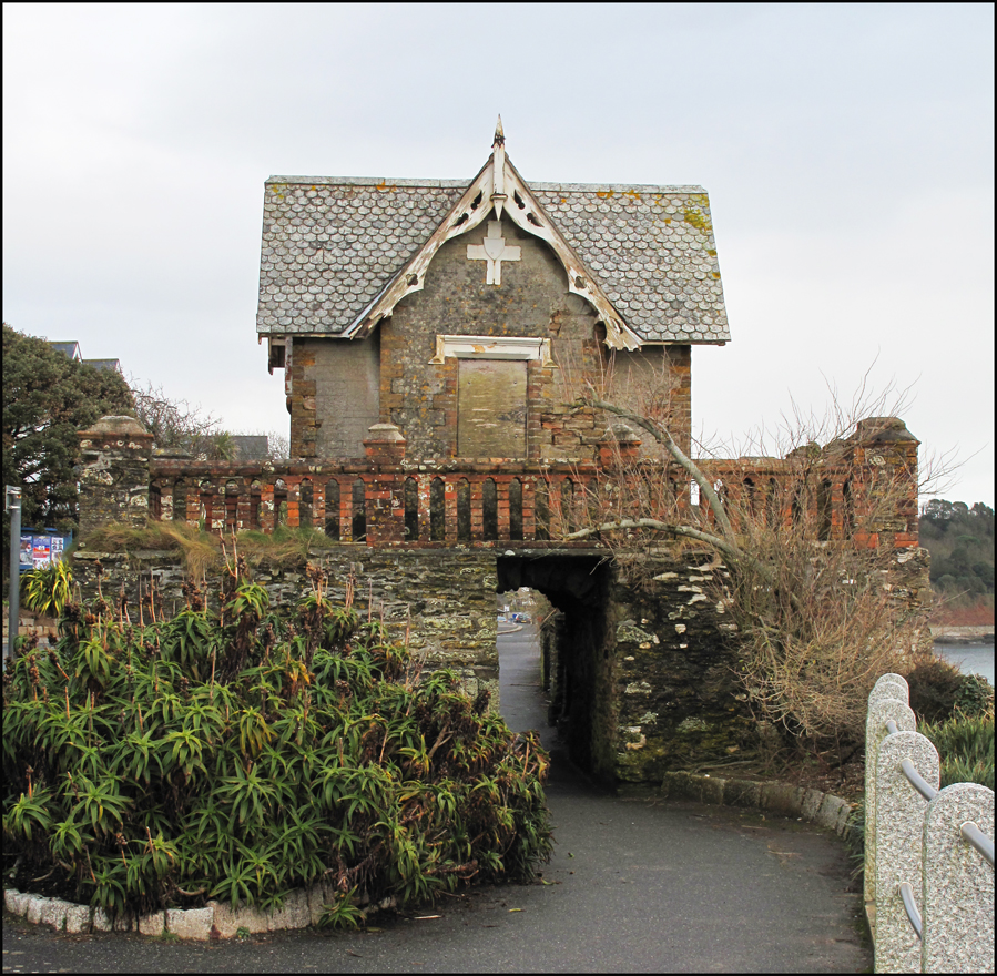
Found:
M 660 556 L 624 572 L 583 550 L 388 550 L 344 545 L 312 553 L 329 575 L 329 598 L 344 599 L 354 579 L 362 613 L 384 620 L 427 673 L 452 668 L 470 694 L 487 688 L 499 702 L 495 594 L 533 586 L 563 608 L 547 630 L 550 719 L 572 760 L 608 783 L 661 782 L 669 770 L 725 759 L 750 745 L 753 726 L 737 698 L 734 651 L 722 604 L 703 590 L 722 567 L 705 553 Z M 184 606 L 175 552 L 78 552 L 83 596 L 124 586 L 135 603 L 154 581 L 160 612 Z M 631 567 L 631 570 L 633 567 Z M 296 602 L 307 590 L 304 567 L 261 566 L 255 579 L 272 602 Z M 578 581 L 591 588 L 577 593 Z M 216 594 L 217 579 L 208 578 Z M 213 599 L 213 598 L 212 598 Z M 553 640 L 550 639 L 553 633 Z

